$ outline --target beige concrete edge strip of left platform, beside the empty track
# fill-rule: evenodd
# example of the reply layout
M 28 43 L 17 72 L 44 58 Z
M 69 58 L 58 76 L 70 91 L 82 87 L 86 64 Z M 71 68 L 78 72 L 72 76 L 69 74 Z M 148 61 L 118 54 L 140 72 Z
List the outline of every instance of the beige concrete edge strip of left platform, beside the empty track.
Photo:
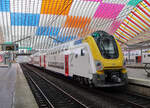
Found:
M 17 81 L 15 86 L 15 108 L 38 108 L 31 89 L 24 77 L 20 65 L 17 64 Z

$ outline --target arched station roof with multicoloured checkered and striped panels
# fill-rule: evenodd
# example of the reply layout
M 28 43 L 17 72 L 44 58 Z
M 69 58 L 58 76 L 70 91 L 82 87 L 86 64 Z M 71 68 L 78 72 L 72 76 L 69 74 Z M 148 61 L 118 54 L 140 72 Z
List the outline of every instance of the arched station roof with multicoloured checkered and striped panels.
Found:
M 0 0 L 0 43 L 47 49 L 96 30 L 121 44 L 149 40 L 150 0 Z

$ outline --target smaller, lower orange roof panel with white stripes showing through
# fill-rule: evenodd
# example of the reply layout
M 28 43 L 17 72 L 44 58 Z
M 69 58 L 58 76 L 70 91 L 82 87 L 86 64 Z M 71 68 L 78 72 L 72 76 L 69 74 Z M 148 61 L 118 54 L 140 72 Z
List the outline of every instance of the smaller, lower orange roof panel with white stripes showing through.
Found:
M 65 27 L 71 28 L 85 28 L 91 22 L 91 18 L 79 16 L 67 16 Z

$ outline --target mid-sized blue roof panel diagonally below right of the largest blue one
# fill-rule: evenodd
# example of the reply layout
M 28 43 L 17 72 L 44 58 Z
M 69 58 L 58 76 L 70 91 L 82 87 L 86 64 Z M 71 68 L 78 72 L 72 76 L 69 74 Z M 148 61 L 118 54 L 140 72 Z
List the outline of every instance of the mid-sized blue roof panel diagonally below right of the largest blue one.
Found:
M 60 28 L 56 27 L 38 27 L 36 30 L 36 35 L 38 36 L 57 36 Z

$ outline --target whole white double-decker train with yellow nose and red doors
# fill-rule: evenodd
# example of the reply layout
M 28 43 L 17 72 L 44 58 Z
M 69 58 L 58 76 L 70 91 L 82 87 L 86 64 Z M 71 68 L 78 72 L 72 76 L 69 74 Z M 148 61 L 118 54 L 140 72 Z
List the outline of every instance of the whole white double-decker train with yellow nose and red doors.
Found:
M 115 38 L 104 31 L 58 45 L 47 53 L 32 55 L 30 64 L 96 87 L 127 84 L 121 48 Z

